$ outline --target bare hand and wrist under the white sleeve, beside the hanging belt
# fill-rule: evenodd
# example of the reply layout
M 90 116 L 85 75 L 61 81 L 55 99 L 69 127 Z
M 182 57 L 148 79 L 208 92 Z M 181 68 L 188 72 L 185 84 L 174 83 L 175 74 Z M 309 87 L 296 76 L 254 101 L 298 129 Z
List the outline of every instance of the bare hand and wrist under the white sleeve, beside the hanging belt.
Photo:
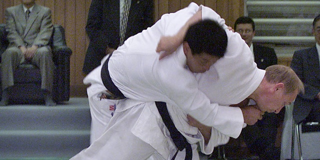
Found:
M 194 119 L 191 115 L 187 115 L 188 118 L 188 123 L 191 126 L 197 127 L 199 129 L 199 131 L 201 132 L 201 134 L 203 135 L 204 138 L 204 144 L 207 144 L 209 142 L 210 136 L 211 136 L 211 127 L 210 126 L 206 126 L 202 123 L 200 123 L 199 121 L 197 121 L 196 119 Z

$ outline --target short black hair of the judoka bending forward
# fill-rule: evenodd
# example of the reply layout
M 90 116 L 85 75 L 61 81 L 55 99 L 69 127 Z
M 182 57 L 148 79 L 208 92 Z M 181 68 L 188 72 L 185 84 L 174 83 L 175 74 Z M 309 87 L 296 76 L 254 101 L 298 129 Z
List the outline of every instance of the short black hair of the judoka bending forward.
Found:
M 227 36 L 225 30 L 214 20 L 201 20 L 189 27 L 184 41 L 187 41 L 192 54 L 205 52 L 222 57 L 226 50 Z

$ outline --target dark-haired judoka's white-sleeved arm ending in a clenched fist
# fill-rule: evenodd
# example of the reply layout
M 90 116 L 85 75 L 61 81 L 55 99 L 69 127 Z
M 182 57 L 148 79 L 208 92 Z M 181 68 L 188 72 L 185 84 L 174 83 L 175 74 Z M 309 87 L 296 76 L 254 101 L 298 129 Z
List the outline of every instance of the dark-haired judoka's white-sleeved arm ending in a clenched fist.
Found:
M 174 76 L 171 75 L 170 77 Z M 177 80 L 181 78 L 171 79 L 171 81 L 176 81 L 173 84 L 179 85 L 173 86 L 172 83 L 168 82 L 161 86 L 166 88 L 165 90 L 170 91 L 167 92 L 166 95 L 171 98 L 173 103 L 181 107 L 181 109 L 190 114 L 200 123 L 212 126 L 225 135 L 234 138 L 239 136 L 244 122 L 242 111 L 239 107 L 210 103 L 207 96 L 194 86 L 196 84 L 192 85 L 192 82 L 186 83 L 187 81 L 191 81 L 192 77 L 179 75 L 177 75 L 177 77 L 186 78 L 180 81 Z

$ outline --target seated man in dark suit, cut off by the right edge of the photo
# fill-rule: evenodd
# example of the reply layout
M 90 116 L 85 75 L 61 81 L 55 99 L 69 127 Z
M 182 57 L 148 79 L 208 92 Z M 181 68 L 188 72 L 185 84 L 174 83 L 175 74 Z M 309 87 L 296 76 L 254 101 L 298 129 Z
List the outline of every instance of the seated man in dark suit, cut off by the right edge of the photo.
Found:
M 293 104 L 293 119 L 320 122 L 320 14 L 313 20 L 312 34 L 316 40 L 313 47 L 296 50 L 291 68 L 304 84 L 304 94 L 298 94 Z

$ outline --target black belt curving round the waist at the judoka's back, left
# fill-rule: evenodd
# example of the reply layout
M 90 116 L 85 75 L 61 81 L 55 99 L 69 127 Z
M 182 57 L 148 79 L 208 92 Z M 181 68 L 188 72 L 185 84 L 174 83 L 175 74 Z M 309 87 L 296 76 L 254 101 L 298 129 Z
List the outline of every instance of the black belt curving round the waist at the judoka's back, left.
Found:
M 118 89 L 118 87 L 115 86 L 115 84 L 113 83 L 113 81 L 110 77 L 110 74 L 109 74 L 108 62 L 109 62 L 109 58 L 111 57 L 111 55 L 112 55 L 112 53 L 110 53 L 110 55 L 105 60 L 105 62 L 102 65 L 102 68 L 101 68 L 102 83 L 106 87 L 107 93 L 109 93 L 109 95 L 107 95 L 106 98 L 107 99 L 124 99 L 125 96 Z

